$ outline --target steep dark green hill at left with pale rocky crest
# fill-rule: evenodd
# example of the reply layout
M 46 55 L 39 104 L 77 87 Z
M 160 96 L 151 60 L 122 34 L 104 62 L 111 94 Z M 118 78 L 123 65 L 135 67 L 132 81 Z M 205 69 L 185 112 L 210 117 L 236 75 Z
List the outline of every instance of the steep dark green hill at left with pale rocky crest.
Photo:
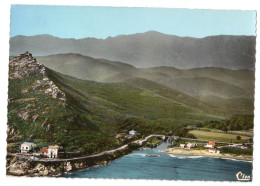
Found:
M 120 145 L 109 126 L 98 125 L 77 105 L 67 102 L 67 95 L 46 75 L 48 70 L 30 54 L 11 59 L 9 67 L 9 144 L 57 144 L 65 152 L 83 154 Z

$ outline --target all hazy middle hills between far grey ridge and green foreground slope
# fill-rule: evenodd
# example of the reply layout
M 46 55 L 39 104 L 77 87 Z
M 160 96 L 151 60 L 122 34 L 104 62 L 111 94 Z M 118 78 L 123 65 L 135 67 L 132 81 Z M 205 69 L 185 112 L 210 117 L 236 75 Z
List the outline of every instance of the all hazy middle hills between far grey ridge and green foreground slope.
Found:
M 215 107 L 228 115 L 253 114 L 254 110 L 254 71 L 250 70 L 136 68 L 118 61 L 73 53 L 39 56 L 37 61 L 81 80 L 108 86 L 127 84 L 148 92 L 167 92 L 166 95 L 175 95 L 174 99 L 180 99 L 182 103 Z

